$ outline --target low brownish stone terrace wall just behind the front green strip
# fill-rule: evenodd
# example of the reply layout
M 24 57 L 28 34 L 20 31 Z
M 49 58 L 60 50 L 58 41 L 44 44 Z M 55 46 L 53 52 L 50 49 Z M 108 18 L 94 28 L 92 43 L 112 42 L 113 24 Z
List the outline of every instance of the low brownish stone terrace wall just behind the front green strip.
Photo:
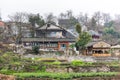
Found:
M 113 66 L 69 66 L 69 67 L 47 67 L 46 72 L 120 72 L 120 67 Z

